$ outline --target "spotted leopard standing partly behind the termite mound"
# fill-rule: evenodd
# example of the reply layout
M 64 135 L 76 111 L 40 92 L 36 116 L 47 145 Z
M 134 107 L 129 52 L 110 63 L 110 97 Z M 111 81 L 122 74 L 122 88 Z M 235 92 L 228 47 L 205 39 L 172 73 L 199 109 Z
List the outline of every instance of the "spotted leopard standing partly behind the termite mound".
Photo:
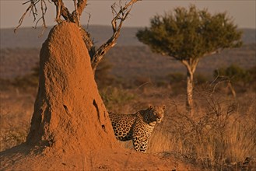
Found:
M 149 105 L 146 110 L 132 114 L 108 112 L 114 130 L 114 136 L 119 141 L 131 141 L 136 152 L 146 152 L 149 137 L 156 124 L 163 120 L 165 105 Z

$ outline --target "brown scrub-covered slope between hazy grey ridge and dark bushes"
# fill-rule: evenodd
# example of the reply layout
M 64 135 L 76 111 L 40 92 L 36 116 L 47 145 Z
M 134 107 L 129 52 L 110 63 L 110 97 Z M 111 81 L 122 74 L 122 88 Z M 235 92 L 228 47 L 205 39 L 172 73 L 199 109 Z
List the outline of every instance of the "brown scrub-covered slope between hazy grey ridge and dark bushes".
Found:
M 40 48 L 4 48 L 0 54 L 0 79 L 13 79 L 30 73 L 39 61 Z M 256 46 L 247 44 L 240 48 L 224 50 L 202 59 L 196 73 L 211 76 L 213 71 L 229 65 L 252 68 L 256 65 Z M 170 73 L 186 73 L 181 62 L 154 54 L 146 46 L 117 46 L 105 59 L 111 74 L 123 79 L 164 79 Z

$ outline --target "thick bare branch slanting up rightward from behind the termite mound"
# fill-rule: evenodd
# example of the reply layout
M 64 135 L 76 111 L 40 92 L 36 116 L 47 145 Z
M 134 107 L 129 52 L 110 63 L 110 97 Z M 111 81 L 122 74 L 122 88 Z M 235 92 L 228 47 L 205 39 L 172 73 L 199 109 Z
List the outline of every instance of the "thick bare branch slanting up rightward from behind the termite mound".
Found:
M 139 0 L 131 0 L 130 2 L 128 2 L 128 4 L 124 5 L 124 7 L 122 7 L 120 3 L 120 10 L 118 12 L 116 10 L 117 4 L 114 3 L 113 5 L 111 5 L 112 13 L 114 15 L 114 19 L 112 19 L 111 22 L 113 35 L 112 37 L 110 37 L 109 40 L 107 40 L 105 44 L 101 45 L 96 53 L 93 55 L 93 58 L 91 60 L 93 72 L 96 71 L 97 65 L 103 59 L 103 56 L 107 53 L 107 51 L 109 51 L 110 48 L 114 47 L 114 45 L 116 44 L 117 38 L 120 35 L 121 26 L 124 23 L 124 20 L 127 19 L 128 14 L 131 12 L 132 5 L 137 1 Z M 119 22 L 118 24 L 117 21 Z

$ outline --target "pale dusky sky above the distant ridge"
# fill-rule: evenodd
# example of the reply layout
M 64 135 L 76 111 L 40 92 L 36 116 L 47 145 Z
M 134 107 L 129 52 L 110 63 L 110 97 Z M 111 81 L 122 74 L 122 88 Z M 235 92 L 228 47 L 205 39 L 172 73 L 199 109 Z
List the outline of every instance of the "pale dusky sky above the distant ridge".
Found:
M 19 18 L 26 11 L 29 3 L 23 5 L 28 0 L 0 0 L 0 28 L 14 28 L 18 25 Z M 51 1 L 51 0 L 50 0 Z M 47 26 L 54 26 L 55 6 L 47 2 Z M 73 1 L 63 0 L 69 11 L 72 11 Z M 82 13 L 81 23 L 87 24 L 89 15 L 89 25 L 110 26 L 113 18 L 110 5 L 118 0 L 88 0 L 88 5 Z M 125 1 L 123 1 L 125 2 Z M 196 5 L 198 9 L 207 8 L 209 12 L 227 12 L 228 16 L 239 28 L 256 29 L 256 0 L 142 0 L 136 2 L 124 26 L 149 26 L 149 19 L 156 14 L 163 14 L 177 7 L 188 8 L 189 5 Z M 38 7 L 38 9 L 40 9 Z M 33 17 L 28 15 L 23 21 L 23 27 L 34 26 Z

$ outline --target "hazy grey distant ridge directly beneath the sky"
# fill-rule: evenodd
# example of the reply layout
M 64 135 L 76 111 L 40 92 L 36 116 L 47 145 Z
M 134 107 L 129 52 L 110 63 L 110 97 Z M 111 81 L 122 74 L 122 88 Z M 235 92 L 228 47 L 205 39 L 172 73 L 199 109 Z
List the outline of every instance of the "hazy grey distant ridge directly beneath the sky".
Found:
M 52 26 L 45 30 L 42 37 L 40 35 L 40 28 L 20 28 L 17 33 L 13 33 L 13 29 L 1 29 L 1 48 L 40 48 L 46 40 Z M 84 27 L 85 28 L 85 27 Z M 108 38 L 112 36 L 112 28 L 110 26 L 89 26 L 87 29 L 93 37 L 96 45 L 103 44 Z M 142 46 L 143 44 L 135 37 L 139 27 L 123 27 L 121 36 L 117 40 L 117 46 Z M 243 29 L 244 44 L 256 43 L 256 36 L 254 29 Z

